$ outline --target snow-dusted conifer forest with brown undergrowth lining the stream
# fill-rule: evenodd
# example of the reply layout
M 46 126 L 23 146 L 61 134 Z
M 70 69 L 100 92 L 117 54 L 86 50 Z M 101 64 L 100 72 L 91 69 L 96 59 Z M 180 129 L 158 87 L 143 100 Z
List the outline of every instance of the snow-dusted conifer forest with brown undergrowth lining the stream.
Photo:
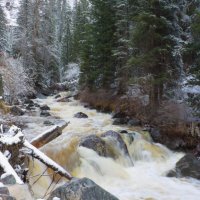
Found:
M 21 66 L 16 73 L 24 83 L 7 96 L 15 94 L 12 102 L 68 85 L 76 64 L 78 96 L 97 109 L 142 124 L 196 122 L 199 9 L 198 0 L 22 0 L 15 25 L 0 12 L 1 50 Z

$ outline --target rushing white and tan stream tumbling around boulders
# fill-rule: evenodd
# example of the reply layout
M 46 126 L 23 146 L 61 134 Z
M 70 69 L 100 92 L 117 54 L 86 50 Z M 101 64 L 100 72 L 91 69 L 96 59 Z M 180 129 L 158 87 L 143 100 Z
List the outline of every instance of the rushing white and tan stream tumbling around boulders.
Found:
M 112 125 L 110 114 L 85 108 L 79 101 L 58 103 L 53 97 L 37 101 L 47 104 L 52 115 L 70 121 L 63 134 L 42 150 L 75 177 L 92 179 L 120 200 L 199 199 L 199 181 L 166 177 L 166 173 L 183 156 L 182 153 L 174 153 L 163 145 L 153 143 L 147 132 L 136 132 L 136 129 L 127 126 Z M 73 115 L 77 112 L 84 112 L 89 118 L 74 118 Z M 123 155 L 119 155 L 116 160 L 100 157 L 93 150 L 78 147 L 81 137 L 90 134 L 100 135 L 108 130 L 127 130 L 133 133 L 134 140 L 131 142 L 125 134 L 123 136 L 131 160 Z M 119 149 L 115 151 L 120 152 Z M 41 164 L 34 163 L 33 175 L 43 171 L 44 167 Z M 49 177 L 44 177 L 34 185 L 34 193 L 43 196 L 49 184 Z

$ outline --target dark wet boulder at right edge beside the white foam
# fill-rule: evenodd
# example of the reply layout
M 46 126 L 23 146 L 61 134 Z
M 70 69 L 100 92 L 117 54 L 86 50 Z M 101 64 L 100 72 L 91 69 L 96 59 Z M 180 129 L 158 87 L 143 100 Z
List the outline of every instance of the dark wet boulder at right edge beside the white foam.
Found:
M 168 175 L 176 177 L 192 177 L 200 180 L 200 160 L 193 154 L 186 154 L 176 163 L 175 173 Z

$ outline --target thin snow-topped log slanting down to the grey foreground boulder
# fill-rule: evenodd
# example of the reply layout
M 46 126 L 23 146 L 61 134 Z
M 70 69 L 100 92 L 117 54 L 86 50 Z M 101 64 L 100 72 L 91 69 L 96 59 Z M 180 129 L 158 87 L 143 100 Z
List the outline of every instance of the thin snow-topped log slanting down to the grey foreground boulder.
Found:
M 45 164 L 47 167 L 51 168 L 55 172 L 57 172 L 62 177 L 67 178 L 68 180 L 71 180 L 73 177 L 69 172 L 67 172 L 63 167 L 58 165 L 56 162 L 54 162 L 52 159 L 50 159 L 48 156 L 46 156 L 44 153 L 42 153 L 40 150 L 38 150 L 36 147 L 34 147 L 32 144 L 30 144 L 27 140 L 24 142 L 24 146 L 28 148 L 29 151 L 25 151 L 26 154 L 32 156 L 33 158 L 38 159 L 40 162 Z

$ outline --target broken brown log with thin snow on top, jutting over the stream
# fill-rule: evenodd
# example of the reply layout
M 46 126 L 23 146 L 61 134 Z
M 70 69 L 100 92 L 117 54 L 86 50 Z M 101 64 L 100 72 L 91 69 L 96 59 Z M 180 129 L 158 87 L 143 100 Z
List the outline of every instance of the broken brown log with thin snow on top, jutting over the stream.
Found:
M 32 141 L 31 144 L 37 148 L 40 148 L 44 146 L 45 144 L 51 142 L 58 136 L 62 134 L 62 130 L 67 127 L 69 122 L 65 122 L 61 125 L 55 125 L 49 130 L 45 131 L 44 133 L 41 133 L 37 137 L 35 137 Z

